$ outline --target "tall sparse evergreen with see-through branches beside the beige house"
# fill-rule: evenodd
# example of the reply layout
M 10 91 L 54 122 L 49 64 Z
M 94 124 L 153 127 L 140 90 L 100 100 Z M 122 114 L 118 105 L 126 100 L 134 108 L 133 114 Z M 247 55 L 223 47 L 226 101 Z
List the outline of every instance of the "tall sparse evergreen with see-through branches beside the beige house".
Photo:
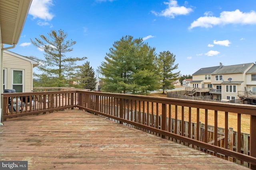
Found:
M 83 61 L 86 57 L 66 57 L 66 53 L 73 50 L 76 41 L 66 40 L 67 33 L 62 29 L 58 32 L 52 30 L 48 37 L 40 35 L 40 38 L 32 39 L 33 45 L 44 51 L 44 59 L 31 56 L 31 59 L 39 61 L 37 67 L 42 74 L 34 74 L 42 82 L 41 86 L 66 86 L 66 78 L 74 75 L 76 61 Z

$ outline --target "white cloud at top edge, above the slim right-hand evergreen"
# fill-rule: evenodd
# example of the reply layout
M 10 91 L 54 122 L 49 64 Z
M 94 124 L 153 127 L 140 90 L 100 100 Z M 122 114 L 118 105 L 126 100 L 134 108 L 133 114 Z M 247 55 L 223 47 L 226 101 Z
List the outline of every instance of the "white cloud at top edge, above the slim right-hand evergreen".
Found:
M 187 15 L 193 11 L 192 8 L 186 8 L 185 6 L 178 6 L 178 3 L 176 0 L 169 0 L 169 2 L 164 2 L 164 4 L 168 5 L 168 7 L 165 10 L 162 10 L 161 12 L 155 12 L 155 11 L 151 11 L 151 12 L 156 16 L 174 18 L 175 16 L 178 16 L 178 15 Z

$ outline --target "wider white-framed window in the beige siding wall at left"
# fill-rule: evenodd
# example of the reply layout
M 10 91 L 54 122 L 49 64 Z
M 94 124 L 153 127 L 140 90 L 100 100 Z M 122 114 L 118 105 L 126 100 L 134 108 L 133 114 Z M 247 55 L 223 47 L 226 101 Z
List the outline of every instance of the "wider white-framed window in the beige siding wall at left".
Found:
M 16 92 L 23 92 L 23 80 L 24 71 L 23 70 L 12 70 L 12 88 L 16 90 Z

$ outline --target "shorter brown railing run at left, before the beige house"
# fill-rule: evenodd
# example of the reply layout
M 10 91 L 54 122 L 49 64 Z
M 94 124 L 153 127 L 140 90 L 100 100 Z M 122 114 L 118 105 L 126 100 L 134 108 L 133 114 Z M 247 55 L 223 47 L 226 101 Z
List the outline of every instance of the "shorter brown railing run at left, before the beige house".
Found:
M 3 119 L 76 107 L 76 91 L 4 93 Z

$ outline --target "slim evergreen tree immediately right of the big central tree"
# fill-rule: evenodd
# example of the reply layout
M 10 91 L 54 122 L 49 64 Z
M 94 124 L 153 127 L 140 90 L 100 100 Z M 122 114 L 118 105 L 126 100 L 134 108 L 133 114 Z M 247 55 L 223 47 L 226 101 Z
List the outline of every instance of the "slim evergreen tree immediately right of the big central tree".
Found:
M 174 65 L 175 55 L 170 53 L 170 51 L 160 52 L 157 58 L 158 72 L 161 77 L 161 86 L 163 90 L 163 94 L 165 90 L 174 89 L 174 85 L 172 84 L 175 80 L 178 80 L 178 76 L 180 72 L 173 72 L 178 68 L 178 64 Z

